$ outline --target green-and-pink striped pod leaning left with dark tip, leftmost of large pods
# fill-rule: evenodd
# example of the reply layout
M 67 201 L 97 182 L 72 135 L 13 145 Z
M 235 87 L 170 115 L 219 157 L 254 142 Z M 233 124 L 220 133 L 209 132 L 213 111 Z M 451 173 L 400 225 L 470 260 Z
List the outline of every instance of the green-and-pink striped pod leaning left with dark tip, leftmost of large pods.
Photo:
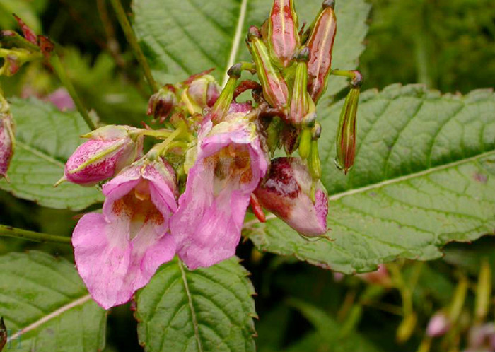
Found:
M 267 46 L 261 40 L 260 30 L 251 27 L 248 34 L 248 47 L 255 61 L 256 71 L 263 87 L 263 96 L 269 105 L 286 110 L 289 100 L 289 88 L 280 71 L 272 64 Z

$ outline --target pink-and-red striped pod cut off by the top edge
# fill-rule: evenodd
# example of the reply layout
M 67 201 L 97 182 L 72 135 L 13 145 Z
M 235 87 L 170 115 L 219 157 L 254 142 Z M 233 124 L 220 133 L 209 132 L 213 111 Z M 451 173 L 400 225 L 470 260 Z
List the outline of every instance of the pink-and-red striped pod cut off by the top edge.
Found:
M 269 51 L 280 66 L 291 64 L 299 47 L 298 16 L 292 0 L 274 0 L 268 19 Z

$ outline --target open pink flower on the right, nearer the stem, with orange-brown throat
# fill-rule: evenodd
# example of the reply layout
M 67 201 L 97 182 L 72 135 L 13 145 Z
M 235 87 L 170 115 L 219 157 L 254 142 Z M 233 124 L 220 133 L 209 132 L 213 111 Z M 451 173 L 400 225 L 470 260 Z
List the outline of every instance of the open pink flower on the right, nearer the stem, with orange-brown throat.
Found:
M 233 105 L 231 111 L 243 110 Z M 215 126 L 204 122 L 196 162 L 170 219 L 177 254 L 190 269 L 235 254 L 250 194 L 267 170 L 256 126 L 246 118 L 250 107 L 243 106 Z

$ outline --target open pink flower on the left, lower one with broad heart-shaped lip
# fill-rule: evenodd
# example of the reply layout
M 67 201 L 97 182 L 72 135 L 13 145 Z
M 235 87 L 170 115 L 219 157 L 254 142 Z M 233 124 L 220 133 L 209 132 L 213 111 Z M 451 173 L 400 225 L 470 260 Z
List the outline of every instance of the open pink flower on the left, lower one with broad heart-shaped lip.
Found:
M 103 186 L 103 213 L 88 213 L 72 235 L 77 270 L 94 300 L 126 303 L 175 255 L 169 219 L 177 209 L 173 168 L 137 161 Z

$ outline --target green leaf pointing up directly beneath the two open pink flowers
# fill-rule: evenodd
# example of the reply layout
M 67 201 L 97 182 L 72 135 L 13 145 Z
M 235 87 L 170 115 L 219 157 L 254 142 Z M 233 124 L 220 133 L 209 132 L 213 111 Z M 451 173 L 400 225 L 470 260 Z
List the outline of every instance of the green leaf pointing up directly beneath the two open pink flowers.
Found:
M 188 271 L 174 259 L 137 295 L 146 352 L 255 351 L 255 293 L 238 258 Z

